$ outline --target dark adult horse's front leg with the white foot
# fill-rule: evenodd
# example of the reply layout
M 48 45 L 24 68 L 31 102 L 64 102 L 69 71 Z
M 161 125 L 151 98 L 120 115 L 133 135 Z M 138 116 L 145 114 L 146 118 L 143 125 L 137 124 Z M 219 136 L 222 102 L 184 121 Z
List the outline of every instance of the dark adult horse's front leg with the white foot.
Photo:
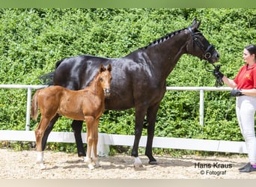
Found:
M 141 159 L 138 158 L 138 144 L 141 139 L 142 127 L 146 109 L 144 107 L 135 108 L 135 139 L 132 147 L 132 156 L 135 157 L 134 167 L 142 167 Z

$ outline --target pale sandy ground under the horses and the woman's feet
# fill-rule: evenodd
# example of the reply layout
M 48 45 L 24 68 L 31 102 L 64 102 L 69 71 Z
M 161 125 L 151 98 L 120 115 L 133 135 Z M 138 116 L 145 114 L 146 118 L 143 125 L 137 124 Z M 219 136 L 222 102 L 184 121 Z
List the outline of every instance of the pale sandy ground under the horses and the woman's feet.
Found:
M 155 156 L 159 165 L 149 165 L 140 156 L 142 168 L 134 168 L 131 156 L 100 157 L 100 168 L 90 170 L 76 154 L 46 151 L 46 170 L 35 163 L 35 151 L 0 149 L 0 179 L 256 179 L 256 172 L 240 174 L 248 162 L 240 156 Z

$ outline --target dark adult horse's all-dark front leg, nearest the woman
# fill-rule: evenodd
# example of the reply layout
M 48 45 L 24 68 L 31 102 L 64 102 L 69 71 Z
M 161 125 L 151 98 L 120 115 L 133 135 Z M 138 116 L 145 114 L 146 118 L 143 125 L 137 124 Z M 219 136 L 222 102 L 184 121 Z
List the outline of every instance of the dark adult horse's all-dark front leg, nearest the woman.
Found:
M 151 106 L 147 109 L 147 145 L 145 155 L 149 159 L 150 165 L 157 165 L 156 159 L 153 158 L 152 155 L 152 144 L 153 144 L 153 136 L 155 132 L 155 123 L 156 123 L 156 114 L 159 109 L 159 103 Z

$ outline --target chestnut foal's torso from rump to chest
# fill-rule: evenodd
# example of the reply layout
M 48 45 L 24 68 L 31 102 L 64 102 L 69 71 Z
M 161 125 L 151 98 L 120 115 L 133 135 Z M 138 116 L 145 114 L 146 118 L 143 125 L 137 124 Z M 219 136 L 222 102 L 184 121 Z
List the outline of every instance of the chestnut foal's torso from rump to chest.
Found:
M 71 91 L 61 86 L 40 90 L 37 102 L 44 117 L 61 114 L 73 120 L 85 120 L 85 116 L 98 117 L 104 110 L 104 102 L 90 89 Z

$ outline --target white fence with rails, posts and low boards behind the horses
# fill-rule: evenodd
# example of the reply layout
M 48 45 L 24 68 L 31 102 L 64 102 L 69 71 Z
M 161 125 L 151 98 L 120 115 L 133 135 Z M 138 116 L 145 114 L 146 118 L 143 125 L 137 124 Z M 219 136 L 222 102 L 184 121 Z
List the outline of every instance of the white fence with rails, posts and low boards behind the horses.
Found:
M 31 108 L 31 89 L 44 88 L 45 85 L 0 85 L 0 88 L 19 88 L 27 89 L 27 111 L 25 131 L 0 130 L 0 141 L 35 141 L 34 131 L 29 130 L 30 126 L 30 108 Z M 213 88 L 213 87 L 167 87 L 168 91 L 199 91 L 200 92 L 200 124 L 204 125 L 204 91 L 231 91 L 231 88 Z M 171 124 L 170 124 L 171 125 Z M 86 133 L 82 133 L 83 142 L 86 143 Z M 133 135 L 109 135 L 100 133 L 99 135 L 99 155 L 109 153 L 109 145 L 132 146 Z M 74 143 L 73 132 L 51 132 L 48 138 L 49 142 Z M 142 136 L 140 147 L 146 146 L 147 137 Z M 228 153 L 247 153 L 246 144 L 240 141 L 217 141 L 202 140 L 191 138 L 163 138 L 154 137 L 153 147 L 172 148 L 181 150 L 205 150 Z

